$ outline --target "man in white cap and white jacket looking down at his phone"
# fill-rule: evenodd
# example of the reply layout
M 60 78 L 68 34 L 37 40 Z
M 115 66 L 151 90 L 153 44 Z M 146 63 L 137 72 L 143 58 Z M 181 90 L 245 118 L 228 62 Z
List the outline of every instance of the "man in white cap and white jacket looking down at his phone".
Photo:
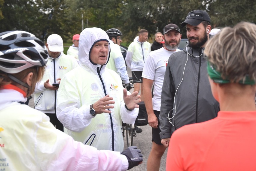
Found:
M 75 58 L 61 53 L 63 52 L 63 41 L 59 35 L 50 35 L 45 46 L 49 60 L 43 78 L 35 87 L 35 109 L 49 116 L 50 122 L 57 129 L 63 131 L 63 125 L 56 117 L 57 90 L 63 75 L 77 67 L 78 63 Z

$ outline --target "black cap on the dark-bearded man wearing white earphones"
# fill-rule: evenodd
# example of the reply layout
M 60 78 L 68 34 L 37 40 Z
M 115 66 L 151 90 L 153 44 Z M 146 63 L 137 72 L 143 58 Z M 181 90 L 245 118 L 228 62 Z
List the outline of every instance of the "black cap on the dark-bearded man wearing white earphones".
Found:
M 208 13 L 203 10 L 194 10 L 187 14 L 186 20 L 181 23 L 181 27 L 186 26 L 186 24 L 197 26 L 203 21 L 211 21 Z

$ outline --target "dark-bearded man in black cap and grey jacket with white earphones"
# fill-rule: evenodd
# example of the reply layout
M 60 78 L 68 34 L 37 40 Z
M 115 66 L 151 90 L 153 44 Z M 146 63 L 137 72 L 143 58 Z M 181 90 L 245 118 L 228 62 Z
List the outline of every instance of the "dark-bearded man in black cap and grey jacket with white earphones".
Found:
M 219 111 L 203 54 L 211 32 L 210 17 L 203 10 L 191 11 L 181 23 L 184 26 L 187 46 L 170 56 L 163 80 L 159 120 L 161 143 L 166 148 L 176 129 L 213 119 Z

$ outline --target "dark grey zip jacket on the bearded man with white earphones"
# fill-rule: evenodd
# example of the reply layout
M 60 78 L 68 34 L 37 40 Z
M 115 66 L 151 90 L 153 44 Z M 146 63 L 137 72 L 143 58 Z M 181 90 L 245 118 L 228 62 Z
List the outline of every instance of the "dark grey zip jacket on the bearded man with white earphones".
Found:
M 183 50 L 173 53 L 169 57 L 166 67 L 159 116 L 161 139 L 170 138 L 176 129 L 184 125 L 213 119 L 219 111 L 218 102 L 212 96 L 206 70 L 207 58 L 202 54 L 203 48 L 192 49 L 189 47 L 189 54 L 187 54 L 186 48 L 185 46 Z M 191 55 L 201 56 L 193 57 Z M 183 70 L 184 78 L 182 80 Z M 176 113 L 173 109 L 175 108 L 174 96 Z M 169 113 L 170 110 L 172 111 Z M 174 126 L 166 118 L 168 113 L 169 118 L 172 118 L 175 113 L 174 118 L 171 119 Z

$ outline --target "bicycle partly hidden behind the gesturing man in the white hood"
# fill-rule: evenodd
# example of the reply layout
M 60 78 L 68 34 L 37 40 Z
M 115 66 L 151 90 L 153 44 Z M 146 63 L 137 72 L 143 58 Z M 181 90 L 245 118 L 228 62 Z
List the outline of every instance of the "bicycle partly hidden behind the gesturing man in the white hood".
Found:
M 133 83 L 141 83 L 142 80 L 139 79 L 138 81 L 133 80 L 133 77 L 129 77 L 130 83 L 131 85 L 125 85 L 123 82 L 123 87 L 126 88 L 126 90 L 130 91 L 130 89 L 133 88 Z M 133 146 L 133 137 L 137 137 L 137 132 L 135 129 L 135 124 L 124 124 L 122 122 L 123 125 L 123 137 L 125 137 L 125 132 L 126 132 L 126 143 L 127 143 L 127 147 Z

